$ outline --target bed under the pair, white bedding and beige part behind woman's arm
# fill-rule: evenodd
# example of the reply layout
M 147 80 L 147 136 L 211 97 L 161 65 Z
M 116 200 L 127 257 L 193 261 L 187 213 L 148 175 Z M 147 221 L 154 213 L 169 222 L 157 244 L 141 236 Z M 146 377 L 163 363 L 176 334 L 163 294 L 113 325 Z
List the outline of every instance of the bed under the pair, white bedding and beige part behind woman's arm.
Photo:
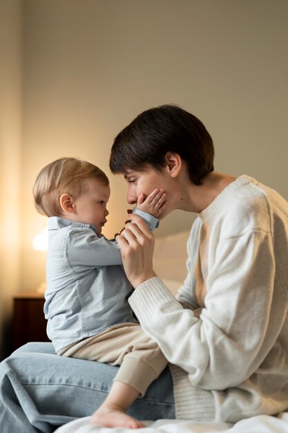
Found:
M 157 239 L 154 252 L 154 268 L 173 294 L 177 293 L 186 276 L 186 241 L 189 231 L 171 234 Z M 288 433 L 288 412 L 278 416 L 260 415 L 238 421 L 236 424 L 193 422 L 181 420 L 146 421 L 140 433 Z M 90 417 L 79 418 L 59 427 L 57 433 L 131 433 L 125 428 L 97 427 L 90 424 Z

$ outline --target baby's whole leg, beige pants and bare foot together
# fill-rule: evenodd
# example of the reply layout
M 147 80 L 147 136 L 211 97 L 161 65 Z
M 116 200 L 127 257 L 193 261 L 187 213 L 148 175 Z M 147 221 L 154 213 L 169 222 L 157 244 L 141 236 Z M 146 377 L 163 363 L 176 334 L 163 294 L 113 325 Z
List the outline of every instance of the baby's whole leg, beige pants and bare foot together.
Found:
M 167 365 L 157 344 L 139 324 L 119 324 L 71 345 L 62 356 L 120 365 L 111 391 L 93 414 L 92 422 L 104 427 L 140 428 L 143 424 L 125 413 Z

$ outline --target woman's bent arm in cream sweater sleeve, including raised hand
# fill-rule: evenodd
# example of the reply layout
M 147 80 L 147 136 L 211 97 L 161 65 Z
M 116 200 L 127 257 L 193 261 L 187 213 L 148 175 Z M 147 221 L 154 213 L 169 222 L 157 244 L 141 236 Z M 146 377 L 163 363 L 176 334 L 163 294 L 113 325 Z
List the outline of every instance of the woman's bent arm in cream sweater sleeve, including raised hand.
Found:
M 285 314 L 277 302 L 275 315 L 271 235 L 252 231 L 223 241 L 200 317 L 183 310 L 155 277 L 153 239 L 143 225 L 127 225 L 121 242 L 124 266 L 136 287 L 129 303 L 169 362 L 204 389 L 227 389 L 249 378 L 271 350 Z

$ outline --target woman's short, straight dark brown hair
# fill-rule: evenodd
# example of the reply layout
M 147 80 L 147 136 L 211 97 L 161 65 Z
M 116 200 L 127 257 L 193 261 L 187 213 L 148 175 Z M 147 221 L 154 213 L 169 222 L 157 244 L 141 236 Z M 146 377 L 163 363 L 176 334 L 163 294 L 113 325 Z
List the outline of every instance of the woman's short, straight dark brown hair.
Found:
M 146 165 L 161 170 L 168 151 L 186 160 L 195 185 L 214 169 L 213 140 L 203 123 L 177 105 L 162 105 L 144 111 L 117 135 L 111 172 L 142 171 Z

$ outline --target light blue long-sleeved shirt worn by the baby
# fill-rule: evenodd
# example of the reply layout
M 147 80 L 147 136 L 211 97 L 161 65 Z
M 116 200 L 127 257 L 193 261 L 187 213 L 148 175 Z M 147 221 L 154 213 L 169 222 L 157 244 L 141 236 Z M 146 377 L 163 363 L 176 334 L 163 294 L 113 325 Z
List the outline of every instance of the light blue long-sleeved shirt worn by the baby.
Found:
M 158 220 L 141 216 L 153 230 Z M 97 236 L 93 225 L 48 219 L 46 282 L 47 335 L 56 352 L 114 324 L 137 322 L 119 246 Z

